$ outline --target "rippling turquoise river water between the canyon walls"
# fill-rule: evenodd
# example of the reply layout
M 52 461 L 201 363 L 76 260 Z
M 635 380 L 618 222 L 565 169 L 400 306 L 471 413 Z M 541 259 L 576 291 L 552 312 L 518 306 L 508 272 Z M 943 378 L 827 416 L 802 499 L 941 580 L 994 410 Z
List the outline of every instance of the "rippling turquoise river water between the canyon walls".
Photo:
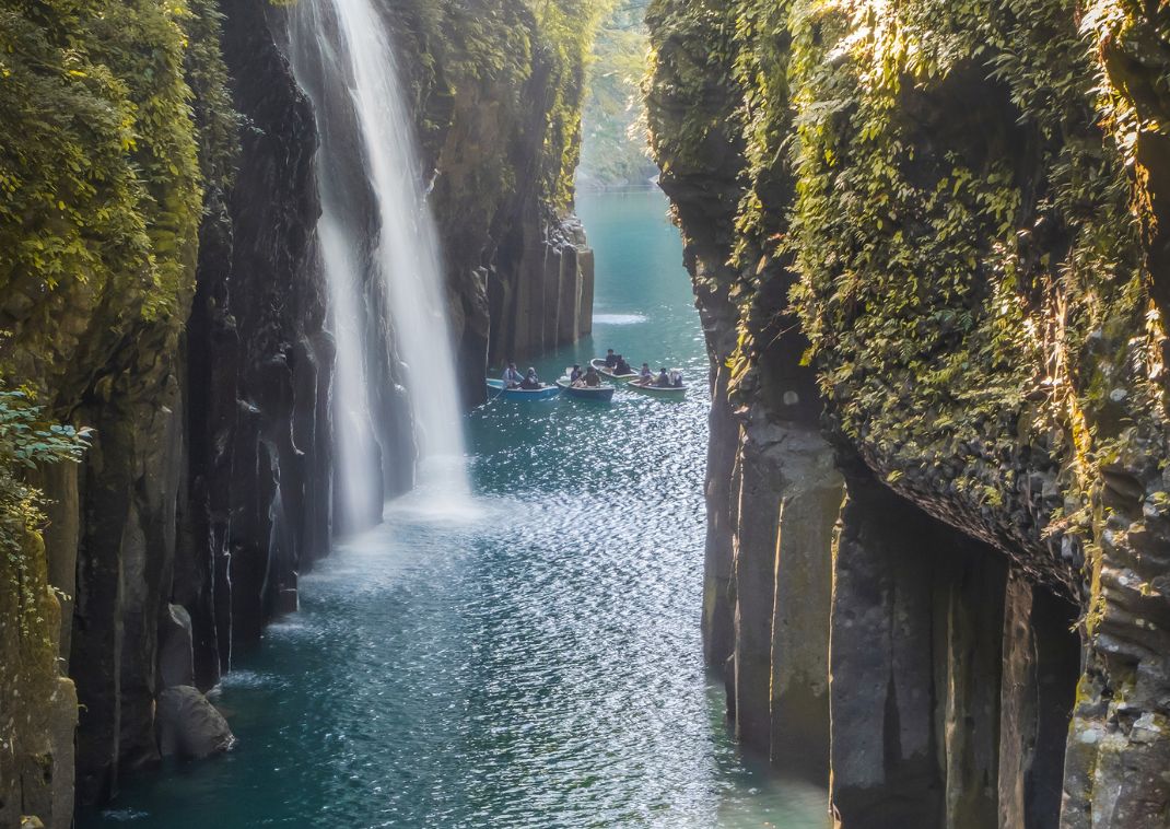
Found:
M 593 342 L 682 366 L 683 403 L 497 402 L 474 496 L 419 492 L 302 581 L 216 703 L 232 754 L 142 777 L 83 827 L 824 829 L 743 760 L 703 672 L 706 357 L 656 192 L 583 196 Z

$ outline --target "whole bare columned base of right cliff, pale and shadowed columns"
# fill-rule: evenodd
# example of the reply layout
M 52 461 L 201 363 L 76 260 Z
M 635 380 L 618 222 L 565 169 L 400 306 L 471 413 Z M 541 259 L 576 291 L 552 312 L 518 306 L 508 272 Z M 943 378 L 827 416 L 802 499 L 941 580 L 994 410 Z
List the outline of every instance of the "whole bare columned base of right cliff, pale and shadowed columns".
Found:
M 815 430 L 720 432 L 704 636 L 738 739 L 830 786 L 849 829 L 1058 825 L 1071 597 L 855 460 L 842 478 Z

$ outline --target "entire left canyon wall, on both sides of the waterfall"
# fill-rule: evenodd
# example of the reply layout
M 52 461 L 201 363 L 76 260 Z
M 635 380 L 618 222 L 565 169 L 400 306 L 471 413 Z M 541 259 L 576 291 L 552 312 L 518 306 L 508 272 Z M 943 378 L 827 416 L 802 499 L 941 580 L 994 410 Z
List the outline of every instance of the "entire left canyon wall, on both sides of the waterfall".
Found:
M 592 21 L 522 0 L 385 13 L 474 399 L 489 359 L 590 328 L 571 176 Z M 5 825 L 71 824 L 77 703 L 80 802 L 160 754 L 228 747 L 204 692 L 329 550 L 318 136 L 285 15 L 263 0 L 0 11 L 0 375 L 26 390 L 2 413 L 35 399 L 51 440 L 55 423 L 94 430 L 81 463 L 35 450 L 28 472 L 28 441 L 0 436 Z

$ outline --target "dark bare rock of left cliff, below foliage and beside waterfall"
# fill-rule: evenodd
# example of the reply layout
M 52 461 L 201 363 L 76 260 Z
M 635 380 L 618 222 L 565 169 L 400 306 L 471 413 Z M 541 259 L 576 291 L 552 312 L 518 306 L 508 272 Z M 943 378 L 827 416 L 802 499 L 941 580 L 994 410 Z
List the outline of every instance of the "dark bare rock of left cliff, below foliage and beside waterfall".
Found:
M 99 436 L 82 487 L 71 649 L 84 800 L 159 756 L 167 602 L 191 614 L 193 679 L 208 688 L 233 643 L 259 638 L 264 619 L 295 604 L 297 571 L 329 537 L 311 114 L 262 6 L 225 4 L 222 28 L 213 7 L 198 11 L 186 78 L 207 210 L 198 265 L 184 263 L 194 282 L 179 311 L 190 303 L 186 337 L 145 329 L 101 368 L 105 385 L 76 416 Z M 250 125 L 239 146 L 233 104 Z

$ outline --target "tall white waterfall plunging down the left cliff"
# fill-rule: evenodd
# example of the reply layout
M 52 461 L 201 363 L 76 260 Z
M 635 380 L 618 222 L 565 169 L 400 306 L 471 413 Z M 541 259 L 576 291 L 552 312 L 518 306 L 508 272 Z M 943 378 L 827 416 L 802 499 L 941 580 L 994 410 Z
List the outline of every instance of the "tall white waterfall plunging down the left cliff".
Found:
M 380 518 L 383 493 L 468 491 L 443 272 L 414 122 L 372 0 L 301 0 L 289 23 L 292 71 L 321 133 L 337 506 L 343 527 L 360 528 Z

